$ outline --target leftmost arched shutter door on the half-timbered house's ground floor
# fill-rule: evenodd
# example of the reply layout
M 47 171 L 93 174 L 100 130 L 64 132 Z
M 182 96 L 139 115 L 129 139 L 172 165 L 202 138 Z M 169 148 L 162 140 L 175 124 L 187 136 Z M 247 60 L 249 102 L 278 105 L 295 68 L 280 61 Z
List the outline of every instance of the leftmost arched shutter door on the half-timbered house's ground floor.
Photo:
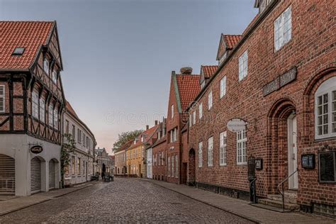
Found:
M 0 194 L 15 194 L 15 160 L 0 154 Z

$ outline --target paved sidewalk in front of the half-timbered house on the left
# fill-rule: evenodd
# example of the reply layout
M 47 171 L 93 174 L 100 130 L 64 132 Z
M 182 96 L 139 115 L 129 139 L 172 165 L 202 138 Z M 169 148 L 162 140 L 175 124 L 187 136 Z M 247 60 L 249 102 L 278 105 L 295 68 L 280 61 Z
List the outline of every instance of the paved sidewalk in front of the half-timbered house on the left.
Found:
M 93 184 L 91 182 L 86 182 L 84 184 L 79 184 L 77 186 L 72 186 L 66 189 L 56 189 L 39 194 L 33 194 L 32 196 L 0 196 L 0 216 L 33 206 L 38 203 L 52 200 L 52 198 L 64 196 L 74 191 L 79 191 L 92 185 Z

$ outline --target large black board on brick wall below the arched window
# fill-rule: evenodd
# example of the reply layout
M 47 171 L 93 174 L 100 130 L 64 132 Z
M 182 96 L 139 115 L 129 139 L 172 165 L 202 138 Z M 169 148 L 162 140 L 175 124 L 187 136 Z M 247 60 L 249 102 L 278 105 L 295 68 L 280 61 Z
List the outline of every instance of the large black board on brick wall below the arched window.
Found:
M 318 153 L 318 177 L 320 182 L 336 183 L 336 151 Z

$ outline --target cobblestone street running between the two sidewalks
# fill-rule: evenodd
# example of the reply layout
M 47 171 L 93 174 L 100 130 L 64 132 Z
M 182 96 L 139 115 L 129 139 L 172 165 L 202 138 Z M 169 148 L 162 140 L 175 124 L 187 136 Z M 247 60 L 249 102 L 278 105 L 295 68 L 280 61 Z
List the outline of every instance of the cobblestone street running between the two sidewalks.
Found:
M 0 217 L 0 223 L 251 223 L 140 179 L 99 182 Z

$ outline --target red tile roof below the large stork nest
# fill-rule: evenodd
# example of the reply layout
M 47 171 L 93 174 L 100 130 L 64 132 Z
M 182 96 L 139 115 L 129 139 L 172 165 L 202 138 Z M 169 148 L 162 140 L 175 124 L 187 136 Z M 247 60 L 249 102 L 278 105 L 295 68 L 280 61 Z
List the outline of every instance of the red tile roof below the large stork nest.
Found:
M 199 74 L 177 74 L 177 87 L 179 88 L 182 112 L 188 108 L 201 90 L 199 77 Z

